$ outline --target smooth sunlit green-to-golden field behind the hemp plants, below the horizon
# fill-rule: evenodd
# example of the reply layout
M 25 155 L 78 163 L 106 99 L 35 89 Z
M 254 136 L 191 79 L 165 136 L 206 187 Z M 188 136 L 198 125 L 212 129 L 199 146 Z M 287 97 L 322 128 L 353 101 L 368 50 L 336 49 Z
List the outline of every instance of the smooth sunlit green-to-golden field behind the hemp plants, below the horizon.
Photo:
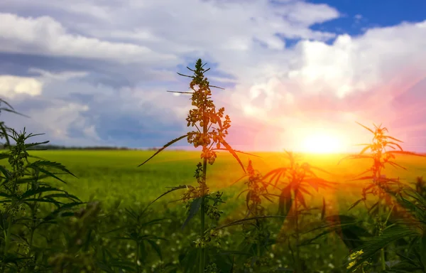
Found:
M 197 151 L 163 151 L 155 156 L 148 164 L 137 167 L 148 159 L 153 151 L 32 151 L 34 156 L 40 156 L 50 161 L 58 161 L 78 177 L 64 176 L 67 185 L 62 187 L 70 193 L 75 193 L 82 200 L 90 197 L 102 200 L 106 205 L 121 200 L 126 205 L 141 205 L 160 196 L 168 186 L 194 185 L 195 165 L 200 161 L 200 152 Z M 253 161 L 254 168 L 267 173 L 280 164 L 286 164 L 280 153 L 253 153 L 254 156 L 241 155 L 241 161 L 246 165 L 248 160 Z M 334 200 L 344 200 L 350 203 L 359 198 L 360 181 L 348 181 L 371 166 L 371 161 L 363 159 L 340 159 L 344 154 L 312 154 L 300 155 L 302 161 L 307 161 L 329 173 L 318 173 L 322 178 L 339 183 L 335 191 L 320 192 Z M 385 173 L 388 177 L 399 177 L 401 181 L 414 182 L 417 176 L 425 176 L 425 159 L 416 156 L 398 156 L 396 162 L 408 168 L 407 171 L 388 166 Z M 238 195 L 244 182 L 234 181 L 244 175 L 234 158 L 228 154 L 219 154 L 216 163 L 208 166 L 207 181 L 212 191 L 227 188 L 224 193 L 226 199 L 231 200 Z M 171 194 L 173 196 L 173 194 Z M 165 197 L 173 200 L 178 197 Z M 342 202 L 338 203 L 344 209 Z

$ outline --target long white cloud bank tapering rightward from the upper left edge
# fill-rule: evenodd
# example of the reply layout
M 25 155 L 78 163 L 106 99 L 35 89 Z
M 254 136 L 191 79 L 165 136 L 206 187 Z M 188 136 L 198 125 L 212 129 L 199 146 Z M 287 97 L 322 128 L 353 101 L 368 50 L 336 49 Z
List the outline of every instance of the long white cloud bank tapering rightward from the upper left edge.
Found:
M 72 35 L 49 16 L 24 18 L 0 14 L 0 50 L 65 57 L 114 60 L 118 63 L 176 60 L 174 55 L 155 53 L 143 45 L 111 43 L 98 38 Z

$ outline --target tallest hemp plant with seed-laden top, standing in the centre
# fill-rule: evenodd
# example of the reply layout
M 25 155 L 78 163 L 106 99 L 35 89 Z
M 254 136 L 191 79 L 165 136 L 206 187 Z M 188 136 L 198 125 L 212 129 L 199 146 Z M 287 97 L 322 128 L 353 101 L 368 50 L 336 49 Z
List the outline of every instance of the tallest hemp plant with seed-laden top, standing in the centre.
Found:
M 231 119 L 227 114 L 224 114 L 224 107 L 217 109 L 213 100 L 211 99 L 212 91 L 210 90 L 210 87 L 216 87 L 220 89 L 223 88 L 209 84 L 207 77 L 204 77 L 204 73 L 206 73 L 210 68 L 205 70 L 204 65 L 202 64 L 202 60 L 198 59 L 195 63 L 195 69 L 187 68 L 194 73 L 193 75 L 183 75 L 178 73 L 178 75 L 190 77 L 192 79 L 190 82 L 190 89 L 192 91 L 178 93 L 191 95 L 192 106 L 194 108 L 190 109 L 186 121 L 187 127 L 195 127 L 195 130 L 192 130 L 187 134 L 168 142 L 168 144 L 165 144 L 161 149 L 158 149 L 158 151 L 156 151 L 153 156 L 139 165 L 141 166 L 146 164 L 147 161 L 160 153 L 160 151 L 163 151 L 168 146 L 174 144 L 177 141 L 180 141 L 181 139 L 186 138 L 188 144 L 192 144 L 195 148 L 202 148 L 200 155 L 202 162 L 197 164 L 195 171 L 195 178 L 197 179 L 198 185 L 196 187 L 190 185 L 176 186 L 162 195 L 164 196 L 165 194 L 176 191 L 178 189 L 187 189 L 181 200 L 185 201 L 191 199 L 192 203 L 190 204 L 189 215 L 182 228 L 185 227 L 189 220 L 200 211 L 200 238 L 196 240 L 196 246 L 200 247 L 199 272 L 204 272 L 205 268 L 207 247 L 206 232 L 208 232 L 207 237 L 215 235 L 214 229 L 207 229 L 205 216 L 207 214 L 210 218 L 212 218 L 212 220 L 219 220 L 219 215 L 214 213 L 217 212 L 217 210 L 207 205 L 206 203 L 207 198 L 210 196 L 209 187 L 206 183 L 207 163 L 210 165 L 214 164 L 214 161 L 217 158 L 216 151 L 229 151 L 239 162 L 241 168 L 245 172 L 244 166 L 241 163 L 239 156 L 236 154 L 239 151 L 232 149 L 232 147 L 225 141 L 225 137 L 228 134 L 229 128 L 231 127 Z M 212 198 L 212 200 L 214 199 L 215 198 Z M 155 200 L 158 200 L 158 198 Z M 153 202 L 155 202 L 155 200 Z

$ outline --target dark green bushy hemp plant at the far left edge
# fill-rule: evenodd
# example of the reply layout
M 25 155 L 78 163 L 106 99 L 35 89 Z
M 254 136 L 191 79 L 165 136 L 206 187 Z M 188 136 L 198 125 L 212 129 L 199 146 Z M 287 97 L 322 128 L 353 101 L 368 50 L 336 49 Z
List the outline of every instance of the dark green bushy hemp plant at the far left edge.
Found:
M 7 112 L 13 112 L 9 106 Z M 5 110 L 1 108 L 0 110 Z M 67 210 L 81 201 L 66 191 L 55 188 L 45 182 L 45 178 L 54 178 L 65 183 L 54 171 L 61 171 L 74 176 L 70 171 L 57 162 L 38 160 L 29 161 L 28 151 L 40 144 L 49 141 L 28 143 L 28 139 L 40 134 L 16 132 L 0 122 L 1 137 L 6 139 L 4 148 L 8 149 L 0 154 L 0 160 L 7 159 L 9 167 L 0 165 L 0 196 L 3 208 L 0 210 L 0 272 L 35 272 L 43 269 L 42 248 L 37 239 L 42 234 L 38 230 L 43 225 L 52 225 L 58 217 L 67 216 Z M 14 141 L 15 144 L 11 144 Z M 37 158 L 38 159 L 38 158 Z M 65 202 L 69 201 L 69 202 Z M 41 204 L 55 206 L 48 215 L 40 215 Z

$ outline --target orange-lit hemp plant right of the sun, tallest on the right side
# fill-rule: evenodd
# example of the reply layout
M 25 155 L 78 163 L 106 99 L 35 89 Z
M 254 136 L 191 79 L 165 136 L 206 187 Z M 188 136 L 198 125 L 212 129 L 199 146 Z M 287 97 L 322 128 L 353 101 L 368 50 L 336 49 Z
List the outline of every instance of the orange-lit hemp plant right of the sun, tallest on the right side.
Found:
M 371 134 L 373 134 L 373 138 L 371 143 L 359 144 L 365 146 L 364 149 L 359 152 L 359 154 L 346 156 L 344 159 L 371 159 L 373 162 L 370 168 L 356 176 L 357 178 L 351 180 L 368 181 L 368 183 L 362 190 L 361 199 L 357 200 L 353 205 L 351 205 L 349 210 L 354 208 L 360 202 L 364 202 L 364 205 L 366 205 L 366 208 L 368 208 L 366 203 L 367 196 L 375 196 L 376 202 L 370 208 L 368 208 L 368 212 L 371 213 L 371 215 L 375 215 L 373 218 L 375 225 L 374 230 L 376 231 L 376 235 L 381 236 L 383 231 L 386 229 L 388 219 L 391 216 L 395 205 L 397 204 L 394 200 L 392 200 L 391 193 L 398 193 L 403 188 L 398 178 L 387 178 L 383 174 L 383 169 L 386 167 L 386 164 L 389 164 L 395 168 L 403 168 L 404 170 L 407 170 L 405 167 L 400 166 L 395 161 L 392 161 L 392 159 L 395 159 L 395 154 L 407 154 L 415 156 L 422 155 L 409 151 L 403 151 L 403 148 L 400 146 L 400 144 L 398 144 L 402 143 L 403 141 L 389 136 L 387 134 L 388 129 L 386 127 L 373 124 L 374 129 L 370 129 L 363 124 L 358 124 L 367 129 L 368 132 L 371 132 Z M 371 154 L 366 154 L 366 151 L 368 150 L 371 151 Z M 381 248 L 380 252 L 381 270 L 383 271 L 386 270 L 384 248 Z

